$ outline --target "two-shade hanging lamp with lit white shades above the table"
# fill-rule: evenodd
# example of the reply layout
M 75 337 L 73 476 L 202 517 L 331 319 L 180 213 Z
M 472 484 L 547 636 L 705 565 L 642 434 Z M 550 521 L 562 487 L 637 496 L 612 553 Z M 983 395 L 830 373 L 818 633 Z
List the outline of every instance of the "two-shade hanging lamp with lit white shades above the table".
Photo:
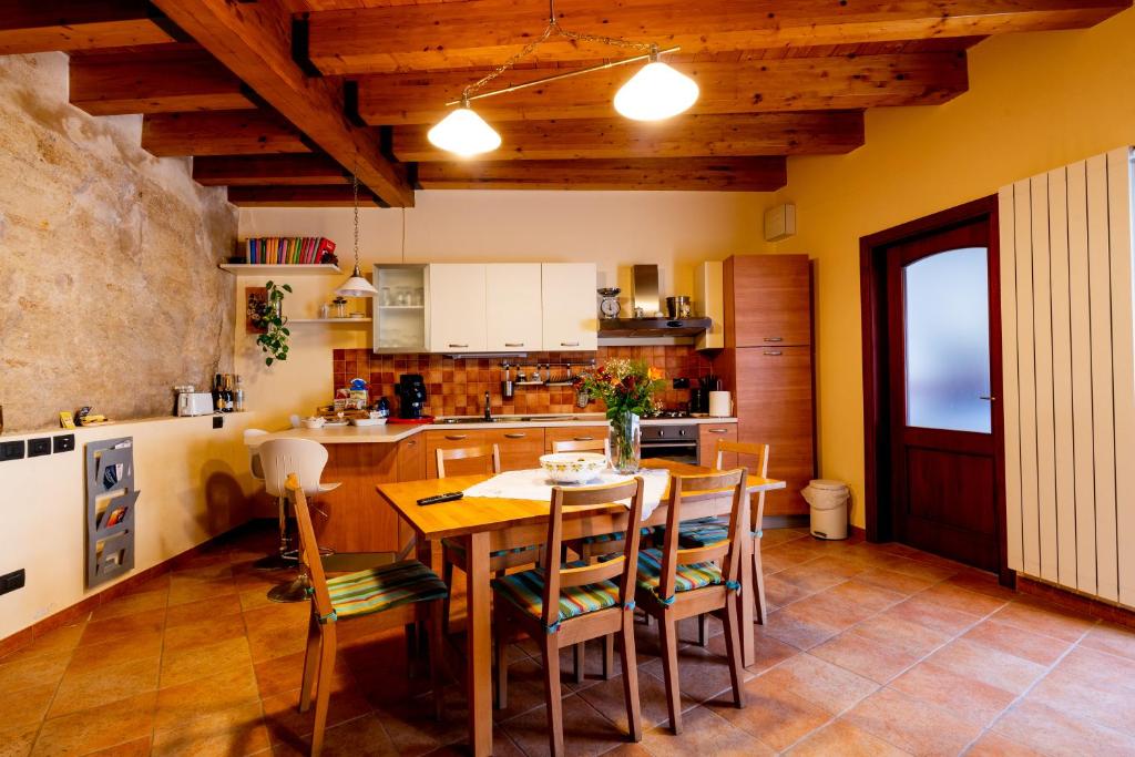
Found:
M 606 44 L 614 48 L 639 50 L 645 54 L 634 56 L 632 58 L 623 58 L 621 60 L 611 60 L 596 66 L 588 66 L 587 68 L 564 72 L 562 74 L 554 74 L 532 82 L 514 84 L 512 86 L 493 90 L 490 92 L 480 91 L 493 79 L 504 74 L 522 59 L 532 54 L 538 47 L 547 42 L 553 35 L 571 40 L 572 42 L 598 42 L 599 44 Z M 497 134 L 496 129 L 489 126 L 489 124 L 472 109 L 470 103 L 473 100 L 506 94 L 508 92 L 515 92 L 518 90 L 524 90 L 532 86 L 540 86 L 548 84 L 549 82 L 556 82 L 572 76 L 590 74 L 592 72 L 614 68 L 616 66 L 625 66 L 628 64 L 634 64 L 644 60 L 648 61 L 647 65 L 639 69 L 638 73 L 636 73 L 634 76 L 623 84 L 619 89 L 619 92 L 615 93 L 615 110 L 622 116 L 634 120 L 650 121 L 671 118 L 672 116 L 676 116 L 678 113 L 688 110 L 695 102 L 697 102 L 699 94 L 697 82 L 658 60 L 658 56 L 667 52 L 675 52 L 679 49 L 680 48 L 678 47 L 673 47 L 659 50 L 658 45 L 654 43 L 630 42 L 628 40 L 619 40 L 611 36 L 597 36 L 594 34 L 569 32 L 561 28 L 556 23 L 555 0 L 548 0 L 548 25 L 544 28 L 544 33 L 526 44 L 520 52 L 514 54 L 504 64 L 497 66 L 478 81 L 468 85 L 462 91 L 460 100 L 453 100 L 445 103 L 448 107 L 460 107 L 437 123 L 427 134 L 427 138 L 435 146 L 455 153 L 462 158 L 470 158 L 486 152 L 491 152 L 501 146 L 501 135 Z

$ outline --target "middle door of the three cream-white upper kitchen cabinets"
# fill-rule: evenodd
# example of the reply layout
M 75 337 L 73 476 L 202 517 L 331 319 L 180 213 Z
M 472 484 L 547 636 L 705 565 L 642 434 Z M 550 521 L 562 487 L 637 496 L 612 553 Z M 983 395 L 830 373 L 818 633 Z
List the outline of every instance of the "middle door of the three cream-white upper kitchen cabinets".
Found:
M 489 352 L 540 350 L 540 263 L 488 263 L 485 281 Z

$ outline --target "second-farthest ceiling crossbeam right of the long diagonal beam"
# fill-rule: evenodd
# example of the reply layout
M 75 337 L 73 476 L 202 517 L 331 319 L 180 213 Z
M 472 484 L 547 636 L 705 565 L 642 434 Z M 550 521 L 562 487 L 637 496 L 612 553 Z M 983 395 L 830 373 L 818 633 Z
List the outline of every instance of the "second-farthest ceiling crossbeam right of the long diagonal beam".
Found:
M 428 131 L 428 125 L 395 127 L 395 157 L 407 162 L 452 161 L 452 153 L 430 144 Z M 840 154 L 864 141 L 858 110 L 686 116 L 657 123 L 628 118 L 503 121 L 497 131 L 501 149 L 484 159 Z

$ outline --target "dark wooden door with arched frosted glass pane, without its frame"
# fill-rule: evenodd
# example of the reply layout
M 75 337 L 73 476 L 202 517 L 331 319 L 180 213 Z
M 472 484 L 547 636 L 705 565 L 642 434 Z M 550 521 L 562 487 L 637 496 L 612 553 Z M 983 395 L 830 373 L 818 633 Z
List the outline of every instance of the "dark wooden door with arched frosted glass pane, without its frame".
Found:
M 989 571 L 1001 542 L 998 268 L 987 219 L 886 256 L 892 532 Z

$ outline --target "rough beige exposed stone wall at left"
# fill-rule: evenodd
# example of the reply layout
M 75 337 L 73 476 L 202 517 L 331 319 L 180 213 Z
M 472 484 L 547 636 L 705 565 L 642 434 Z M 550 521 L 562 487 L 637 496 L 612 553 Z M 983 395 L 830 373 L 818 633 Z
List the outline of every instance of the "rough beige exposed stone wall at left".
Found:
M 5 430 L 82 405 L 168 415 L 171 387 L 232 370 L 236 211 L 141 117 L 67 101 L 67 57 L 0 57 L 0 405 Z

